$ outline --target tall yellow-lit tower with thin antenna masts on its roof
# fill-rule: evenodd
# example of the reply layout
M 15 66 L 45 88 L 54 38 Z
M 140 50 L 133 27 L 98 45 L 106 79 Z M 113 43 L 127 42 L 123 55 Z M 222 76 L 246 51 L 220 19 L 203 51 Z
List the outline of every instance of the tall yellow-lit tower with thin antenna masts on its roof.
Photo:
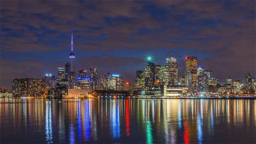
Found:
M 168 69 L 170 72 L 170 79 L 169 82 L 171 85 L 177 85 L 178 84 L 178 62 L 176 60 L 176 58 L 171 57 L 171 53 L 170 53 L 170 57 L 166 59 L 166 65 L 168 65 Z

